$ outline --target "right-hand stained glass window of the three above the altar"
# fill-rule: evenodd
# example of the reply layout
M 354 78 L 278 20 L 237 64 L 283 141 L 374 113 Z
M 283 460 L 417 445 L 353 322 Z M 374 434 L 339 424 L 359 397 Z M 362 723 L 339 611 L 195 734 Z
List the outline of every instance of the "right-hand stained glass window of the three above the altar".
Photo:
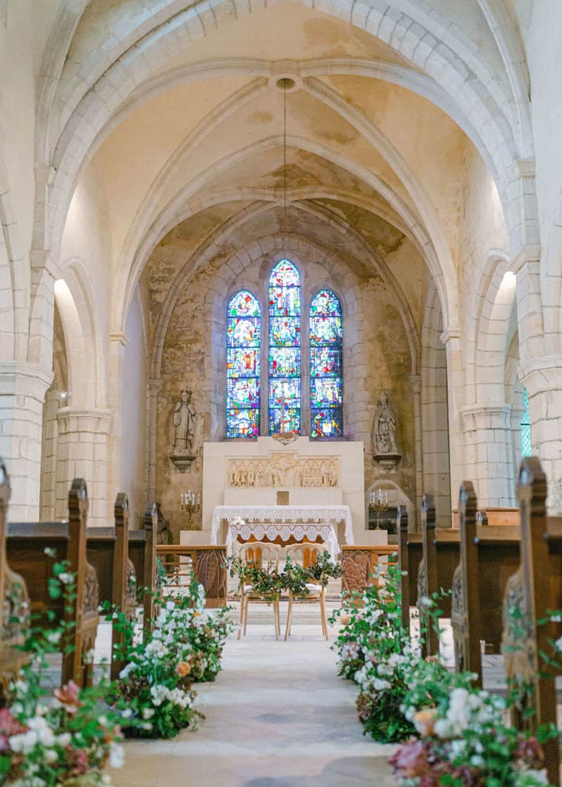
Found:
M 343 432 L 342 306 L 331 290 L 320 290 L 310 305 L 311 438 Z

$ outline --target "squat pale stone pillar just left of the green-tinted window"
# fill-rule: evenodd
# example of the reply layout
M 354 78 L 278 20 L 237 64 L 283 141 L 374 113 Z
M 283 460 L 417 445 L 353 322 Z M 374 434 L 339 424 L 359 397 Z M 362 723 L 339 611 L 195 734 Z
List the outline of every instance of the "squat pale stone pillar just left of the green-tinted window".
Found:
M 460 410 L 464 472 L 474 483 L 479 507 L 514 505 L 512 406 L 469 405 Z

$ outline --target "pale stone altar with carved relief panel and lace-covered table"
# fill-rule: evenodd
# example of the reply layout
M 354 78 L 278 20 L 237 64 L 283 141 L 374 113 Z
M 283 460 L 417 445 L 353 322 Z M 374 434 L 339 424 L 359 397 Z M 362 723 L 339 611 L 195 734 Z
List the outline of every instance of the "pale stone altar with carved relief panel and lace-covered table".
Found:
M 263 534 L 268 540 L 268 528 L 275 527 L 271 534 L 281 544 L 321 539 L 337 553 L 344 544 L 386 543 L 386 532 L 367 529 L 359 441 L 301 436 L 288 445 L 272 437 L 205 442 L 202 530 L 182 530 L 180 543 L 234 544 L 244 538 L 235 529 L 228 533 L 237 516 L 253 528 L 252 538 Z

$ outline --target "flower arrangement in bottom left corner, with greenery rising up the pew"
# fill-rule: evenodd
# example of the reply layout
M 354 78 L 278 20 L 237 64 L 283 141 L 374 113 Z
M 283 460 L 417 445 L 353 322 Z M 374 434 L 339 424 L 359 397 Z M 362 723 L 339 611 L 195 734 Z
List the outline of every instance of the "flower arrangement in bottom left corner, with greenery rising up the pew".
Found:
M 66 563 L 55 563 L 51 597 L 68 605 L 75 593 Z M 0 784 L 6 787 L 101 787 L 106 768 L 120 767 L 120 715 L 104 702 L 107 685 L 49 691 L 46 656 L 64 647 L 68 626 L 31 626 L 23 649 L 30 660 L 9 685 L 0 710 Z

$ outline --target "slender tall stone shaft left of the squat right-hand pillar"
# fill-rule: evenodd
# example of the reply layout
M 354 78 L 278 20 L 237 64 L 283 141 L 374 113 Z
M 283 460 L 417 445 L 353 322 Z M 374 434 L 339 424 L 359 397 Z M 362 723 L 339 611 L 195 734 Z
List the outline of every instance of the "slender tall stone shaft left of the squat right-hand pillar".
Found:
M 464 405 L 464 368 L 460 353 L 460 331 L 443 331 L 441 341 L 445 345 L 447 356 L 451 507 L 457 508 L 460 484 L 464 481 L 465 474 L 464 436 L 460 427 L 460 408 Z

